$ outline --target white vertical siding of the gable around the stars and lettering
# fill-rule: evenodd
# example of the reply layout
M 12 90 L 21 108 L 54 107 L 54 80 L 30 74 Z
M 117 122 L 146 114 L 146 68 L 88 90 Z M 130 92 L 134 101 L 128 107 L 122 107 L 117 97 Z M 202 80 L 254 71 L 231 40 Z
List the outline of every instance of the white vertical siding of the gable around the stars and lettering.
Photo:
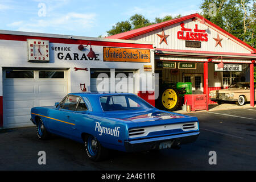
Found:
M 181 22 L 180 22 L 181 23 Z M 140 40 L 147 42 L 155 42 L 156 48 L 160 49 L 179 49 L 179 50 L 192 50 L 192 51 L 212 51 L 212 52 L 234 52 L 234 53 L 251 53 L 248 48 L 244 48 L 240 44 L 236 43 L 236 40 L 231 38 L 228 39 L 227 35 L 224 35 L 223 32 L 217 32 L 212 27 L 208 27 L 205 24 L 201 24 L 196 21 L 193 22 L 191 19 L 185 20 L 183 23 L 185 24 L 185 28 L 195 28 L 195 24 L 198 25 L 200 30 L 206 30 L 208 34 L 208 42 L 201 42 L 201 48 L 188 48 L 185 47 L 185 40 L 177 39 L 177 32 L 180 31 L 180 23 L 172 24 L 171 26 L 164 27 L 164 34 L 169 35 L 167 38 L 167 43 L 160 42 L 160 37 L 156 34 L 162 34 L 162 28 L 148 32 L 143 35 L 136 36 L 131 38 L 130 40 Z M 217 38 L 217 34 L 219 34 L 220 39 L 222 39 L 221 44 L 215 47 L 216 41 L 213 38 Z

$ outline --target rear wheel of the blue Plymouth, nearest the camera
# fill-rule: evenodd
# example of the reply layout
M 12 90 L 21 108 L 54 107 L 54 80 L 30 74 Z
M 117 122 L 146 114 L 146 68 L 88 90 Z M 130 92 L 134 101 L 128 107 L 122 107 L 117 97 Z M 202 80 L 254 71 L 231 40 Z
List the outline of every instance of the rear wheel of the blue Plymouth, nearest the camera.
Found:
M 103 160 L 108 155 L 108 149 L 104 148 L 100 142 L 92 135 L 84 138 L 85 151 L 88 158 L 94 162 Z

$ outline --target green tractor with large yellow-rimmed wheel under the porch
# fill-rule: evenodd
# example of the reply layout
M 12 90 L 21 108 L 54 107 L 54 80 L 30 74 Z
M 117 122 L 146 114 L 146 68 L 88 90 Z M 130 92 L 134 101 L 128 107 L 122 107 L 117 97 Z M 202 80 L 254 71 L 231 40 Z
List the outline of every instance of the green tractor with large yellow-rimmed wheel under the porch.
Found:
M 160 85 L 156 105 L 159 109 L 174 111 L 184 103 L 184 95 L 192 94 L 191 82 L 172 82 Z

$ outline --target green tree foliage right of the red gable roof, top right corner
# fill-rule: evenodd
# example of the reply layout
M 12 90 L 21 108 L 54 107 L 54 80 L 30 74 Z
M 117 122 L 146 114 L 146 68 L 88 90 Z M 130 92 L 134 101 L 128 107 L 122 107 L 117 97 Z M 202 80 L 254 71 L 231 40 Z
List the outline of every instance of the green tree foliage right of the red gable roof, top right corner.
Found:
M 255 46 L 254 0 L 204 0 L 201 15 L 230 34 Z

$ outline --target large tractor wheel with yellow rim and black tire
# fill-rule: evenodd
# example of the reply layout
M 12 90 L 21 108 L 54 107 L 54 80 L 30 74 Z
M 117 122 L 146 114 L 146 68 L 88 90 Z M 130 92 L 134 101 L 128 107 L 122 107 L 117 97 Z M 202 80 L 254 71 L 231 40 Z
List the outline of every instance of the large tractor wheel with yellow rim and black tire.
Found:
M 160 93 L 160 107 L 163 110 L 174 111 L 179 107 L 180 97 L 176 89 L 165 88 Z

